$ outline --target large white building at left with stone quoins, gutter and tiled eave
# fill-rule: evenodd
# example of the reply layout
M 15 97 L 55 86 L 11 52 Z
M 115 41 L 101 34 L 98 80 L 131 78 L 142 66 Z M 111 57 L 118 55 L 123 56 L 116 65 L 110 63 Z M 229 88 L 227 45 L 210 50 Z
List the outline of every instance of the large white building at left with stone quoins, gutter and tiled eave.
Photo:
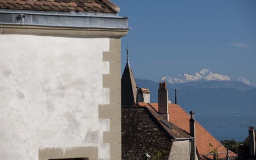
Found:
M 121 37 L 109 0 L 0 1 L 0 157 L 121 159 Z

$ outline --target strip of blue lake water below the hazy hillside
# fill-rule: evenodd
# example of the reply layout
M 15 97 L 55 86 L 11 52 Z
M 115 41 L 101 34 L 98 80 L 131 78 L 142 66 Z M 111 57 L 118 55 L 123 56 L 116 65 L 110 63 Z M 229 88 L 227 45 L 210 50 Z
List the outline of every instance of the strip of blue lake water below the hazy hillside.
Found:
M 206 128 L 212 136 L 220 140 L 236 140 L 243 142 L 248 136 L 248 128 Z

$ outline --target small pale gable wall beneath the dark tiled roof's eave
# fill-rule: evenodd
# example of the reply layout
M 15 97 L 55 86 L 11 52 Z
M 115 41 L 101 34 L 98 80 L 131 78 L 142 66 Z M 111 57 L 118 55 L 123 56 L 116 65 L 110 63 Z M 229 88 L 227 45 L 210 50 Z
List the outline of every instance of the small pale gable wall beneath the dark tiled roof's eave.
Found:
M 168 160 L 190 160 L 189 140 L 174 141 Z

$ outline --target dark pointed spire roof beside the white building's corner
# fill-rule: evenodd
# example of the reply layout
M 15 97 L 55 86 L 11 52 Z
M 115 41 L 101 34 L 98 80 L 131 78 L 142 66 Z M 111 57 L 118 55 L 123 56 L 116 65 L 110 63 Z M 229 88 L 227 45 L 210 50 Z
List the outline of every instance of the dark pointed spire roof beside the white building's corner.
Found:
M 124 72 L 122 75 L 122 106 L 133 106 L 136 103 L 137 98 L 137 84 L 132 74 L 132 69 L 129 64 L 129 60 L 126 62 Z

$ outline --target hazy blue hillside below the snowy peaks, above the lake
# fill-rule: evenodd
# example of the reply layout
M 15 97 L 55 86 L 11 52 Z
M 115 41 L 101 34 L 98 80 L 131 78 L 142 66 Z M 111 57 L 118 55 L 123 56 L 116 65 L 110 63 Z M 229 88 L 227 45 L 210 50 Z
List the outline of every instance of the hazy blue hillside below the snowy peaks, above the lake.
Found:
M 157 102 L 158 83 L 136 79 L 138 87 L 150 89 L 150 101 Z M 169 98 L 205 127 L 248 127 L 256 125 L 256 88 L 235 81 L 203 81 L 167 84 Z M 174 101 L 173 101 L 174 102 Z

